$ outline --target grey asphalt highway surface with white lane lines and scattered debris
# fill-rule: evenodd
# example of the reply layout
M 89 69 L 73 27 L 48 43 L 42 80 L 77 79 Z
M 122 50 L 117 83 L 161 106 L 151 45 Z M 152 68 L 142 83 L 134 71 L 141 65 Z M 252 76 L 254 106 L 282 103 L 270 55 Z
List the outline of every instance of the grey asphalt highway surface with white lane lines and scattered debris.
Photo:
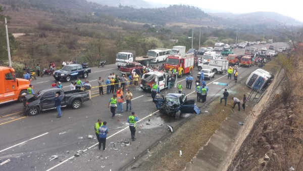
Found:
M 251 47 L 261 50 L 262 47 L 268 48 L 270 45 L 286 46 L 279 42 Z M 244 50 L 233 51 L 236 54 L 244 54 Z M 239 68 L 238 82 L 257 68 L 256 66 Z M 99 76 L 106 79 L 113 72 L 121 75 L 115 64 L 91 69 L 92 73 L 87 79 L 93 87 L 97 86 Z M 194 78 L 197 72 L 197 68 L 194 68 L 192 73 Z M 185 76 L 178 78 L 178 81 L 182 83 L 187 98 L 196 99 L 195 85 L 193 84 L 191 90 L 188 90 L 185 89 Z M 214 81 L 228 83 L 229 86 L 218 86 L 212 83 Z M 53 82 L 55 82 L 54 77 L 44 76 L 31 83 L 37 91 L 50 88 Z M 70 90 L 70 82 L 61 82 L 64 90 Z M 215 78 L 206 82 L 209 87 L 207 101 L 222 96 L 225 88 L 229 89 L 236 84 L 233 80 L 227 79 L 225 73 L 216 74 Z M 127 89 L 133 94 L 132 111 L 135 111 L 140 119 L 137 122 L 137 140 L 134 142 L 130 141 L 130 131 L 126 122 L 130 112 L 117 112 L 115 118 L 111 118 L 107 105 L 112 94 L 99 96 L 98 88 L 92 89 L 92 100 L 84 102 L 79 109 L 62 108 L 61 118 L 56 118 L 56 110 L 42 111 L 36 116 L 25 116 L 21 103 L 0 105 L 0 162 L 11 160 L 0 166 L 0 170 L 121 170 L 142 153 L 148 153 L 148 149 L 154 144 L 161 143 L 165 136 L 173 134 L 168 131 L 167 125 L 176 129 L 188 117 L 198 117 L 194 114 L 184 114 L 180 119 L 174 119 L 162 115 L 158 112 L 149 92 L 135 88 Z M 106 92 L 106 87 L 104 90 Z M 161 91 L 162 95 L 167 93 L 177 93 L 177 89 Z M 196 102 L 196 104 L 198 107 L 202 106 L 202 103 Z M 126 109 L 125 103 L 123 108 Z M 110 134 L 106 151 L 97 149 L 93 127 L 98 118 L 108 122 Z M 88 135 L 92 135 L 93 138 L 88 138 Z M 77 153 L 79 156 L 74 156 Z M 58 158 L 52 160 L 54 155 Z

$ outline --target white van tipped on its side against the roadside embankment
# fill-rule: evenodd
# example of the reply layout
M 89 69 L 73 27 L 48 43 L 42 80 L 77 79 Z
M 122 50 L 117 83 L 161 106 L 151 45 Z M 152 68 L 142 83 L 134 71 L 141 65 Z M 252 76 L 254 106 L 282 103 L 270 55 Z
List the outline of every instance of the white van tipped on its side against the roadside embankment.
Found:
M 251 72 L 246 80 L 246 85 L 251 89 L 261 91 L 266 89 L 273 80 L 274 75 L 264 69 L 257 69 Z

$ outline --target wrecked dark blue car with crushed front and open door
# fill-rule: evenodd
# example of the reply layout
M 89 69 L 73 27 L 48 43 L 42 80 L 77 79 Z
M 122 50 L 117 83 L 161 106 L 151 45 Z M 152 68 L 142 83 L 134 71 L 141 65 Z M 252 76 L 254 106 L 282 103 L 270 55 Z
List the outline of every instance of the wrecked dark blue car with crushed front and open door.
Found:
M 153 102 L 160 112 L 179 118 L 182 113 L 200 113 L 199 108 L 194 105 L 195 100 L 187 100 L 185 94 L 169 93 L 156 97 Z

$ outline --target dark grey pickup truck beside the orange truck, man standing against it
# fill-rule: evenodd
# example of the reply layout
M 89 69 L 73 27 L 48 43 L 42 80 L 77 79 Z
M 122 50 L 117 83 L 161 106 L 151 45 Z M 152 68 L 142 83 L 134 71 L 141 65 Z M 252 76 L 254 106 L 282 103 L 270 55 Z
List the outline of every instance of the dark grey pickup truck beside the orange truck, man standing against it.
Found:
M 26 95 L 23 101 L 25 113 L 28 115 L 36 115 L 43 110 L 55 109 L 55 95 L 61 97 L 61 107 L 72 106 L 78 109 L 83 102 L 88 101 L 88 93 L 83 90 L 63 91 L 59 88 L 51 88 L 38 91 L 35 95 Z

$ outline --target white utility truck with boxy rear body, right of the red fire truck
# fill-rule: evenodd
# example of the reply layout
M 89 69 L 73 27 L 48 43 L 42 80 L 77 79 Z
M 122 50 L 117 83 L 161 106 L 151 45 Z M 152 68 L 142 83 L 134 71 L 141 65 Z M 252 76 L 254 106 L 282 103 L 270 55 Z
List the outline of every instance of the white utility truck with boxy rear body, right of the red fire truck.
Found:
M 228 60 L 225 59 L 210 59 L 209 62 L 198 64 L 198 70 L 211 69 L 215 74 L 226 72 L 228 69 Z

